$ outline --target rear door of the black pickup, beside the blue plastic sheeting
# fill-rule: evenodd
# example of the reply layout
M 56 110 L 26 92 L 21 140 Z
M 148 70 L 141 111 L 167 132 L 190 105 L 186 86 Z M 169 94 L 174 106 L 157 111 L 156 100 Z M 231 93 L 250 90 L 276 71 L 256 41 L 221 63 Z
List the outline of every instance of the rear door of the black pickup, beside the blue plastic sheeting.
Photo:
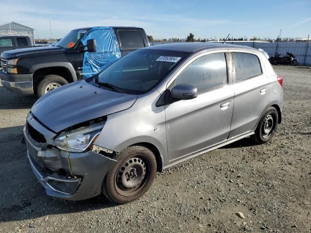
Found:
M 121 56 L 125 56 L 132 51 L 147 47 L 148 41 L 144 40 L 144 33 L 140 29 L 115 29 Z

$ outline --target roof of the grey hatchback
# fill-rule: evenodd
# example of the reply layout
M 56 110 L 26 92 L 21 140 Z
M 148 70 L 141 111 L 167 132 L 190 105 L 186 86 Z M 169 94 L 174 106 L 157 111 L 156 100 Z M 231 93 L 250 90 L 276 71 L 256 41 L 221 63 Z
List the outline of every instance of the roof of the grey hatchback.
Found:
M 208 43 L 208 42 L 191 42 L 191 43 L 168 43 L 162 45 L 154 45 L 147 47 L 147 50 L 173 50 L 181 52 L 196 52 L 204 49 L 247 49 L 252 50 L 251 47 L 241 46 L 241 45 L 232 45 L 232 44 L 223 44 L 223 43 Z

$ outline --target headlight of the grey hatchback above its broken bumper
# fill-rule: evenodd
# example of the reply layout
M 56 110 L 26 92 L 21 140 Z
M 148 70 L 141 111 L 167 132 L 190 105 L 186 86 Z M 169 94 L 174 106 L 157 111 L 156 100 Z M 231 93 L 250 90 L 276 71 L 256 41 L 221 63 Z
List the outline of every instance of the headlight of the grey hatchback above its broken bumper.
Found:
M 95 141 L 98 134 L 101 133 L 104 124 L 96 124 L 85 129 L 74 130 L 71 132 L 61 133 L 54 140 L 54 144 L 60 150 L 69 152 L 82 152 Z

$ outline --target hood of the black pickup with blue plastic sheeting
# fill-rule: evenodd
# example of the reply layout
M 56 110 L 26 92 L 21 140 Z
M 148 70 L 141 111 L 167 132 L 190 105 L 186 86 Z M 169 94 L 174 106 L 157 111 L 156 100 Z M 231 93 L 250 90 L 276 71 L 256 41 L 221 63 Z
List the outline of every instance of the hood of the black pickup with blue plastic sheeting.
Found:
M 62 49 L 59 47 L 54 46 L 38 46 L 33 48 L 25 48 L 25 49 L 18 49 L 18 50 L 8 50 L 1 53 L 1 57 L 4 59 L 12 59 L 15 57 L 21 56 L 29 56 L 29 55 L 37 55 L 40 53 L 47 53 L 47 52 L 63 52 L 66 49 Z

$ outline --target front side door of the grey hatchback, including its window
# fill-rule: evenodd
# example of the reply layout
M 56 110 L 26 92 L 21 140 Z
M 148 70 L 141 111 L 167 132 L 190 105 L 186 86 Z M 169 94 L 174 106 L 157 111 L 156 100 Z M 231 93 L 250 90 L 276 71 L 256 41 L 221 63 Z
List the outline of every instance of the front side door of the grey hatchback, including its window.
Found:
M 225 51 L 198 55 L 184 67 L 168 83 L 168 89 L 190 84 L 198 88 L 198 96 L 165 106 L 170 161 L 225 141 L 230 133 L 234 90 Z

